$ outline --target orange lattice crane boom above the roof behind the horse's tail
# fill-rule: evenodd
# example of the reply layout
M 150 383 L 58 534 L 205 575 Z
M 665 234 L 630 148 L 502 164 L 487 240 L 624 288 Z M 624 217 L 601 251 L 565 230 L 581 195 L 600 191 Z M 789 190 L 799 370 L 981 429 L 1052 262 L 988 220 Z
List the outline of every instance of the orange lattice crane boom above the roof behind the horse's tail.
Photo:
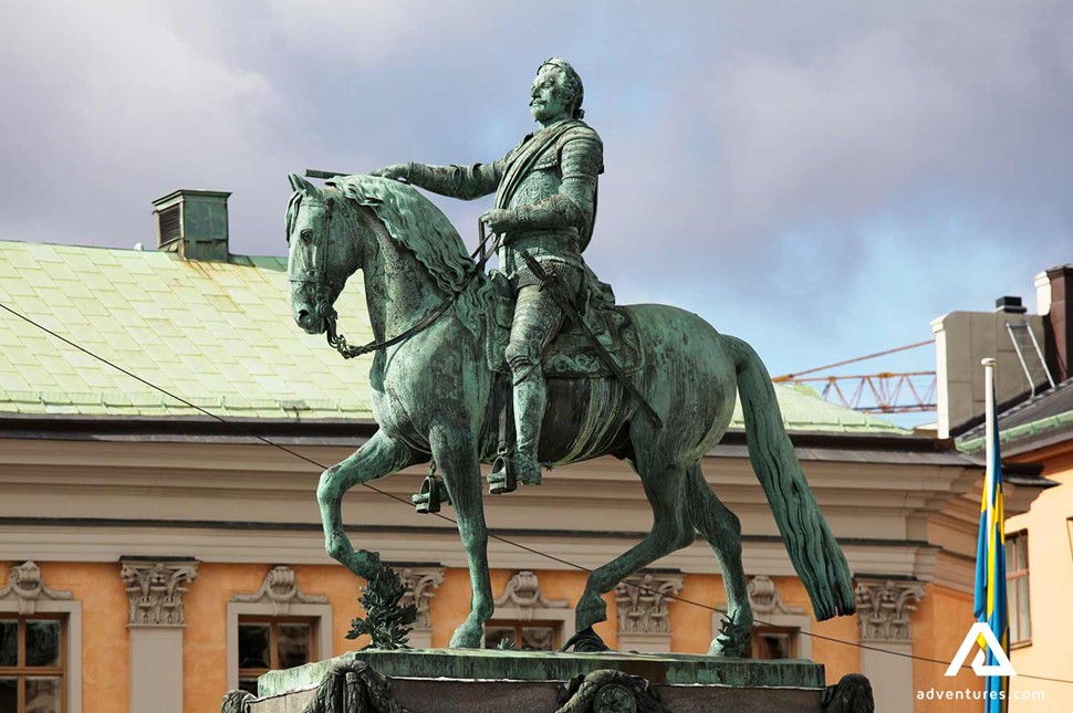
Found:
M 820 396 L 825 400 L 864 413 L 923 413 L 934 411 L 936 409 L 935 371 L 881 371 L 877 374 L 802 378 L 808 374 L 826 371 L 847 364 L 856 364 L 857 361 L 916 349 L 930 344 L 933 344 L 930 340 L 908 344 L 894 349 L 885 349 L 875 354 L 819 366 L 814 369 L 783 374 L 771 380 L 777 384 L 804 384 L 813 388 L 819 388 L 822 384 L 823 388 L 820 390 Z

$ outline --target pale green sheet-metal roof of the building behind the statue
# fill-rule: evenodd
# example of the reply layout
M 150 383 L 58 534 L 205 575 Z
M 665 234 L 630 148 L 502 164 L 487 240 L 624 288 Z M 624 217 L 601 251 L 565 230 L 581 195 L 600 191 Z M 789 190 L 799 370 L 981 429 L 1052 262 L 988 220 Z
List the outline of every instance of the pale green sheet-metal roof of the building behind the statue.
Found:
M 284 258 L 0 241 L 0 302 L 223 418 L 372 418 L 369 358 L 344 361 L 294 324 Z M 336 307 L 352 344 L 372 338 L 360 280 Z M 7 312 L 0 354 L 0 415 L 199 416 Z M 792 431 L 909 433 L 811 389 L 777 391 Z M 744 428 L 740 406 L 731 428 Z

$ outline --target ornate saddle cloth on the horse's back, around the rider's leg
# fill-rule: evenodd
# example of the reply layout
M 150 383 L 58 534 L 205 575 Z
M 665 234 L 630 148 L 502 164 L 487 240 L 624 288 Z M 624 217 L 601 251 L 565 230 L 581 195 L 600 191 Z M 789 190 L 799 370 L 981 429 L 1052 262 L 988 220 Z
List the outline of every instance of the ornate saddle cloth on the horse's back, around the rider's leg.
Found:
M 514 318 L 510 283 L 501 273 L 493 272 L 485 290 L 489 291 L 486 304 L 490 306 L 486 312 L 485 329 L 488 367 L 499 374 L 510 374 L 503 356 Z M 623 373 L 631 374 L 644 367 L 644 345 L 629 313 L 598 300 L 590 300 L 587 308 L 585 307 L 586 305 L 580 305 L 579 312 Z M 546 378 L 584 379 L 613 376 L 611 368 L 593 348 L 588 336 L 570 319 L 563 323 L 559 334 L 544 349 L 542 366 Z

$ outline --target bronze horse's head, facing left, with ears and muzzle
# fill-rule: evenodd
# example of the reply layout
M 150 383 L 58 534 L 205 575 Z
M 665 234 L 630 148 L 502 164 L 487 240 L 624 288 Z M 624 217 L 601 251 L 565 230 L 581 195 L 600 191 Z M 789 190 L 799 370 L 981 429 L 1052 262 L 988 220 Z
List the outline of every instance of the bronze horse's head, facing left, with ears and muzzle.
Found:
M 323 334 L 334 331 L 332 305 L 357 266 L 353 241 L 340 239 L 340 229 L 347 227 L 346 216 L 340 214 L 345 212 L 344 199 L 298 174 L 288 178 L 294 189 L 287 207 L 291 314 L 310 334 Z

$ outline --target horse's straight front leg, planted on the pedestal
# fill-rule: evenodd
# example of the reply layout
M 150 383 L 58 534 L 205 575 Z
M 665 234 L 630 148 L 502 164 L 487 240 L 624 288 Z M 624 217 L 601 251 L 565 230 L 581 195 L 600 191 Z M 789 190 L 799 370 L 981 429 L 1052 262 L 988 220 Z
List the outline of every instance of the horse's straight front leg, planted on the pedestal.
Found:
M 433 457 L 444 473 L 444 481 L 455 504 L 458 534 L 469 562 L 469 579 L 473 590 L 469 616 L 455 630 L 451 648 L 476 649 L 485 633 L 485 622 L 492 616 L 496 604 L 488 574 L 488 527 L 481 502 L 480 461 L 477 439 L 467 429 L 439 427 L 429 438 Z

